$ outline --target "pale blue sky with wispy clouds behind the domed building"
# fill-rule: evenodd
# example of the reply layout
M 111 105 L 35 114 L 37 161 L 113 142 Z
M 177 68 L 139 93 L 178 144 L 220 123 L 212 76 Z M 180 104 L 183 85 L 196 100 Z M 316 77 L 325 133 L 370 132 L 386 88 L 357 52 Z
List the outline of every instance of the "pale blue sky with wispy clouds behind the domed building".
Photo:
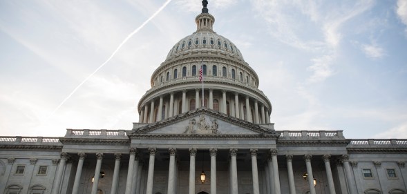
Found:
M 195 32 L 199 0 L 171 1 L 77 86 L 165 2 L 0 1 L 0 135 L 131 129 L 153 70 Z M 276 130 L 407 138 L 406 0 L 214 0 L 208 8 L 214 30 L 258 73 Z

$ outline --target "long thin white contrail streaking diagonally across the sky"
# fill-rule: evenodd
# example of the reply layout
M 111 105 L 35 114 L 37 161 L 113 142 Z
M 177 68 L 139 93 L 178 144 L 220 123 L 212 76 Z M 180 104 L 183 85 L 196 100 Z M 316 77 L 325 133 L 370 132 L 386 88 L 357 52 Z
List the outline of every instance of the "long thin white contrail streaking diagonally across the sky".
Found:
M 100 70 L 100 68 L 102 68 L 104 65 L 106 65 L 108 63 L 108 61 L 110 61 L 117 53 L 117 51 L 120 50 L 120 48 L 122 48 L 122 46 L 124 45 L 124 43 L 126 43 L 127 41 L 129 41 L 129 39 L 131 37 L 133 37 L 133 35 L 135 35 L 135 33 L 137 33 L 138 31 L 140 31 L 144 26 L 146 26 L 147 23 L 149 23 L 149 21 L 151 21 L 151 19 L 153 19 L 157 14 L 159 14 L 167 5 L 168 3 L 171 2 L 171 0 L 167 0 L 157 11 L 155 11 L 151 17 L 149 17 L 149 19 L 147 19 L 146 21 L 144 21 L 144 23 L 142 23 L 141 26 L 139 26 L 137 29 L 135 29 L 133 32 L 130 33 L 130 35 L 128 35 L 126 37 L 126 39 L 124 39 L 122 41 L 122 43 L 120 43 L 119 46 L 117 46 L 116 50 L 113 51 L 112 55 L 110 57 L 108 57 L 108 59 L 106 61 L 104 61 L 104 63 L 99 66 L 94 72 L 91 73 L 91 75 L 89 75 L 88 77 L 86 77 L 86 79 L 84 79 L 84 81 L 81 82 L 81 84 L 79 84 L 78 86 L 76 86 L 76 88 L 68 95 L 68 97 L 66 97 L 61 104 L 59 104 L 57 106 L 57 108 L 55 108 L 55 110 L 53 111 L 53 113 L 50 113 L 50 115 L 48 115 L 47 119 L 54 115 L 55 112 L 57 112 L 57 110 L 59 108 L 61 108 L 61 106 L 76 92 L 77 89 L 79 89 L 86 81 L 88 81 L 89 78 L 91 78 L 98 70 Z

